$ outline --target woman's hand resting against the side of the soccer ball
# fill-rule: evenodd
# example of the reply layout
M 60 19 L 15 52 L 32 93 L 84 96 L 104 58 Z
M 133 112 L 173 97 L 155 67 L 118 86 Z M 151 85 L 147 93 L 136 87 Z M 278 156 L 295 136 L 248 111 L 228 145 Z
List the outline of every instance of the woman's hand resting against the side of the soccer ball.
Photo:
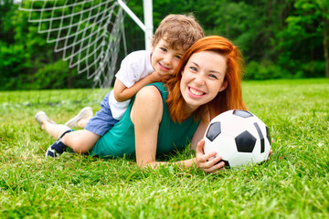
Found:
M 218 172 L 220 169 L 224 169 L 224 162 L 220 162 L 222 157 L 218 156 L 209 161 L 210 158 L 214 157 L 217 152 L 211 152 L 205 154 L 204 151 L 205 141 L 201 140 L 196 146 L 196 167 L 200 168 L 204 172 Z

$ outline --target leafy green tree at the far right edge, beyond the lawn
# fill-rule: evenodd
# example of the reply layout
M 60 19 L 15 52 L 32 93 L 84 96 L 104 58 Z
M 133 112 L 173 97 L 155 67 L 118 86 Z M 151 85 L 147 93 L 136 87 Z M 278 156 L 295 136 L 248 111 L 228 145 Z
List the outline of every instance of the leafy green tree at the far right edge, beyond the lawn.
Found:
M 297 75 L 321 77 L 325 71 L 328 77 L 328 6 L 328 0 L 295 1 L 287 26 L 277 34 L 279 63 Z

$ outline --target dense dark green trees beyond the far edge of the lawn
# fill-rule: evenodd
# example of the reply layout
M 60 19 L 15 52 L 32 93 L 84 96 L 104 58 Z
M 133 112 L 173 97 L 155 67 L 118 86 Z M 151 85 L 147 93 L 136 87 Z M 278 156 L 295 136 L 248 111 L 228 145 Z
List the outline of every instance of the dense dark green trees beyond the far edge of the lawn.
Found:
M 92 87 L 92 80 L 69 68 L 15 2 L 0 1 L 0 89 Z M 143 21 L 143 1 L 127 5 Z M 189 13 L 207 36 L 226 36 L 239 46 L 246 59 L 244 79 L 329 78 L 328 0 L 154 1 L 154 29 L 168 14 Z M 128 53 L 144 49 L 143 31 L 130 16 L 125 16 L 124 33 Z M 124 56 L 121 49 L 117 68 Z

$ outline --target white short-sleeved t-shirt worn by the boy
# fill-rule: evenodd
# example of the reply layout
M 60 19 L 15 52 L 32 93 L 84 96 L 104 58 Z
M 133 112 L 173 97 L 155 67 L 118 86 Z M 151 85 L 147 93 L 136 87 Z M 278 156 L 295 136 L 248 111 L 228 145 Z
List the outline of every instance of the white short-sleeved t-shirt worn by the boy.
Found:
M 151 65 L 151 51 L 135 51 L 124 57 L 119 71 L 115 74 L 115 77 L 119 79 L 125 87 L 131 88 L 134 83 L 142 78 L 150 75 L 154 72 L 154 68 Z M 114 98 L 113 92 L 109 97 L 109 105 L 111 113 L 114 119 L 120 120 L 123 113 L 128 108 L 130 99 L 118 102 Z

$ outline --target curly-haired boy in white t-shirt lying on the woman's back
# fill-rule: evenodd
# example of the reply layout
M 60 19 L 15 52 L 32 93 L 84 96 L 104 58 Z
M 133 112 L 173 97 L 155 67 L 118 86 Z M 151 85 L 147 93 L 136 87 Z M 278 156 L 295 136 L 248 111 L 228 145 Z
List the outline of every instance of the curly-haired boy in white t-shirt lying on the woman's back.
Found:
M 66 143 L 76 152 L 90 151 L 96 141 L 121 119 L 130 99 L 137 91 L 147 84 L 170 77 L 178 67 L 180 57 L 203 36 L 203 30 L 194 16 L 164 17 L 154 33 L 152 51 L 136 51 L 122 60 L 121 68 L 115 75 L 114 88 L 101 102 L 101 110 L 88 121 L 84 130 L 64 132 L 64 134 L 70 132 L 66 136 L 68 140 Z M 80 117 L 70 120 L 69 123 L 75 123 L 77 118 Z M 46 129 L 48 133 L 58 138 L 58 133 L 48 130 L 51 128 L 48 128 L 46 123 L 52 121 L 44 112 L 38 112 L 36 120 L 41 129 Z M 46 157 L 56 157 L 64 151 L 66 145 L 60 141 L 64 134 L 49 146 Z

